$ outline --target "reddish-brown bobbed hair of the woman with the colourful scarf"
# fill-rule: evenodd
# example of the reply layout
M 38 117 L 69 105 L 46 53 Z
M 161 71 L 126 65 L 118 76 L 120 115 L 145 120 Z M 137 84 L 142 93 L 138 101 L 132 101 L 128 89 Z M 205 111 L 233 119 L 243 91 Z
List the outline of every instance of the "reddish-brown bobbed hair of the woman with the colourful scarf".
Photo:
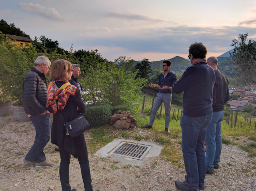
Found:
M 73 69 L 72 64 L 66 60 L 57 60 L 54 61 L 50 69 L 50 77 L 53 80 L 62 79 L 69 80 L 70 71 Z

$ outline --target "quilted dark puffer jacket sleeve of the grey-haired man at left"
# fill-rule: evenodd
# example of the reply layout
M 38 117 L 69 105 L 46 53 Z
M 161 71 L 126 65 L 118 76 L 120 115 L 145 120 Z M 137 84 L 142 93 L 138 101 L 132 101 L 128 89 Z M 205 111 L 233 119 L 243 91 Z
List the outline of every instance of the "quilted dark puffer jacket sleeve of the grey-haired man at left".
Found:
M 38 78 L 35 75 L 29 75 L 24 79 L 23 84 L 23 99 L 29 104 L 29 106 L 35 110 L 38 114 L 45 112 L 45 107 L 38 102 L 35 98 L 37 91 Z

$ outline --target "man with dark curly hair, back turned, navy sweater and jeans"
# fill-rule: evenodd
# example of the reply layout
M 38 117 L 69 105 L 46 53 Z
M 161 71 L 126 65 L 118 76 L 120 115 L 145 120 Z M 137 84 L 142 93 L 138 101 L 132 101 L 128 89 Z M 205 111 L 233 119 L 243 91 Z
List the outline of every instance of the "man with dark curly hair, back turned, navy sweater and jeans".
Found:
M 183 115 L 180 126 L 182 130 L 181 149 L 187 175 L 185 181 L 175 181 L 175 186 L 182 191 L 204 189 L 206 176 L 206 158 L 204 139 L 207 126 L 212 118 L 214 70 L 207 65 L 207 49 L 203 43 L 193 43 L 189 47 L 192 66 L 185 70 L 182 77 L 173 84 L 173 93 L 183 94 Z

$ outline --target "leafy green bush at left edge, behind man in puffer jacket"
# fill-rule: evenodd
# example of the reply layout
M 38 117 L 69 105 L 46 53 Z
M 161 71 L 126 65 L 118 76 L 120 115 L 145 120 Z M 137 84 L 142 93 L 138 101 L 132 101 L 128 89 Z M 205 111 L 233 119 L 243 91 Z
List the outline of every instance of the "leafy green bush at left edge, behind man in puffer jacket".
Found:
M 3 38 L 3 34 L 0 34 Z M 37 52 L 33 46 L 26 48 L 12 42 L 0 42 L 0 89 L 12 101 L 21 101 L 22 83 L 30 67 L 34 66 Z

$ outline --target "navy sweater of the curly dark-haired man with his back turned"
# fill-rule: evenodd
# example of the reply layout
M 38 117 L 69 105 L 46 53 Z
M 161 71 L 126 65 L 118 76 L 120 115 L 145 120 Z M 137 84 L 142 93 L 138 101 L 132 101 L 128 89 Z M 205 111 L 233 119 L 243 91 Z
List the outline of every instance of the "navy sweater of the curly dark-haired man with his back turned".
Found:
M 213 111 L 214 70 L 206 62 L 188 67 L 182 77 L 173 84 L 173 93 L 183 94 L 183 113 L 186 116 L 201 117 Z

